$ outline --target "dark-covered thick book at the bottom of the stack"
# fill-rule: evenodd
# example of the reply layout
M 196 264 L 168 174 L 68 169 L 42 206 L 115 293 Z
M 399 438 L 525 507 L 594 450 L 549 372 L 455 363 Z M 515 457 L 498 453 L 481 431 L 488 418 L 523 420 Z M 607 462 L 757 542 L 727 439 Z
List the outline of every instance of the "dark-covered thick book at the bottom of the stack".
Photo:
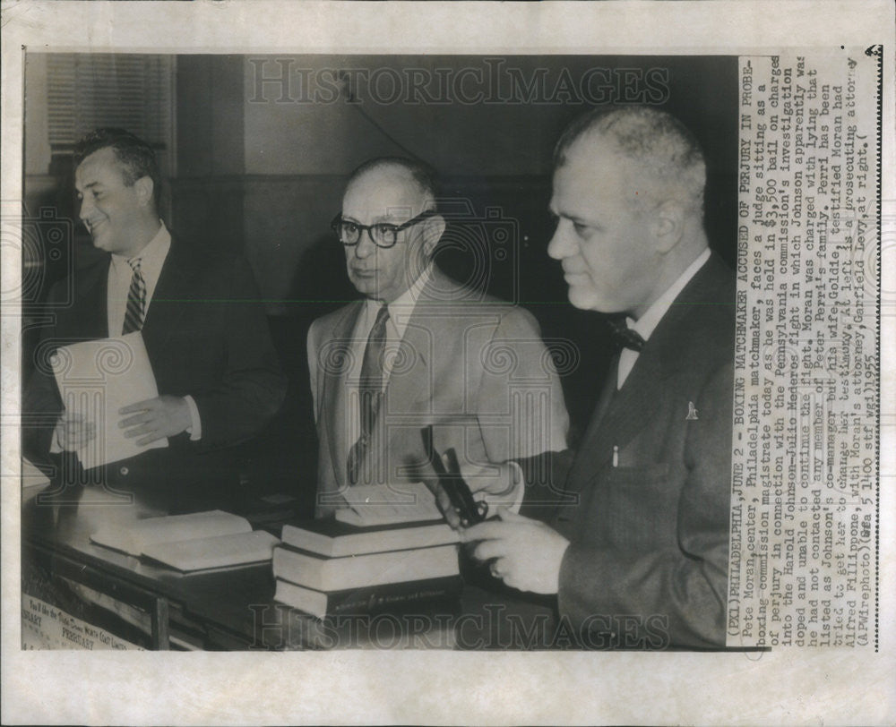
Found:
M 326 616 L 374 613 L 392 606 L 455 597 L 461 593 L 462 584 L 460 577 L 450 576 L 324 592 L 278 578 L 274 599 L 323 619 Z

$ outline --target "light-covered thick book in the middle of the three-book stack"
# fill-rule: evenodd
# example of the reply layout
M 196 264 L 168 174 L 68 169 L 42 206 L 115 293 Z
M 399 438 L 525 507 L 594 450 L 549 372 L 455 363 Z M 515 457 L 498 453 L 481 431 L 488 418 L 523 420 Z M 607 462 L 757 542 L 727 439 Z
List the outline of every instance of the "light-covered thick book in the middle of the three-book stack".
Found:
M 457 546 L 322 558 L 286 545 L 274 548 L 274 576 L 318 591 L 366 588 L 460 574 Z

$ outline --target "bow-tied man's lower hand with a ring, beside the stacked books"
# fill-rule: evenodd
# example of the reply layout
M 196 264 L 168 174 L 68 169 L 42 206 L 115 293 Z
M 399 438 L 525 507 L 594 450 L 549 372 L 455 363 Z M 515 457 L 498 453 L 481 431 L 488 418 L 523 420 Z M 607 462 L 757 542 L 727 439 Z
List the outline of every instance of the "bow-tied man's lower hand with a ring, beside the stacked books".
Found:
M 491 560 L 492 575 L 508 586 L 536 594 L 556 594 L 560 563 L 569 541 L 551 527 L 530 517 L 498 510 L 497 520 L 461 531 L 463 543 L 476 543 L 477 560 Z

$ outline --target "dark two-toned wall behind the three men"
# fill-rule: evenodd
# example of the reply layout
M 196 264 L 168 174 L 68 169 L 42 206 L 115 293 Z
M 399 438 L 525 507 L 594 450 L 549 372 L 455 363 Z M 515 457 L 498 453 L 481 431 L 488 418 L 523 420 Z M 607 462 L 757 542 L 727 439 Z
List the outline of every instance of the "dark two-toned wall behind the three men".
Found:
M 677 115 L 706 153 L 711 244 L 728 261 L 736 255 L 735 57 L 177 56 L 174 82 L 168 223 L 197 244 L 246 254 L 291 381 L 278 420 L 245 448 L 260 487 L 314 478 L 306 331 L 355 297 L 329 222 L 346 176 L 367 158 L 432 164 L 449 212 L 439 264 L 529 308 L 545 338 L 575 343 L 580 359 L 564 390 L 576 430 L 607 354 L 599 316 L 568 304 L 559 265 L 547 258 L 551 152 L 564 126 L 599 103 L 647 101 Z M 26 107 L 26 139 L 39 128 Z M 31 204 L 39 191 L 40 203 L 74 218 L 70 162 L 56 158 L 42 175 L 27 174 L 31 167 L 26 159 Z M 82 230 L 76 240 L 76 258 L 93 254 Z

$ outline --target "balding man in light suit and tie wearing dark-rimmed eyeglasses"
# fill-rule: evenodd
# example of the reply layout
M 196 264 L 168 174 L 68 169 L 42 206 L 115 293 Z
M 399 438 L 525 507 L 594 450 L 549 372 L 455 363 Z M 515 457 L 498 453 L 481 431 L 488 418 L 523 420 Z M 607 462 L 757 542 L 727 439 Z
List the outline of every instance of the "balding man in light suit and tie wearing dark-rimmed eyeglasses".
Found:
M 535 320 L 433 263 L 445 220 L 428 167 L 361 165 L 332 228 L 364 297 L 308 332 L 318 517 L 344 507 L 354 485 L 418 479 L 428 424 L 435 449 L 455 449 L 474 479 L 498 472 L 490 463 L 564 449 L 563 394 Z M 507 482 L 488 489 L 516 492 L 521 478 L 501 472 Z

